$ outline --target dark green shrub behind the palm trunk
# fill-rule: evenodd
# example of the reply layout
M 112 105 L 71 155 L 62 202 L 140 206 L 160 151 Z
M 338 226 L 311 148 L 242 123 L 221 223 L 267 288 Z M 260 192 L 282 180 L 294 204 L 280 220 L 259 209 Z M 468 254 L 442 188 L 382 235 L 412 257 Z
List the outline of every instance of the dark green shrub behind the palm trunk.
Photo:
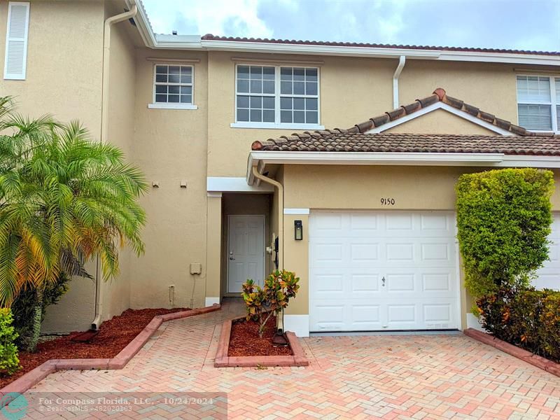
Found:
M 41 322 L 43 322 L 45 318 L 47 307 L 51 304 L 56 304 L 60 300 L 60 297 L 68 291 L 69 281 L 69 277 L 66 276 L 64 272 L 61 272 L 55 283 L 45 286 Z M 16 297 L 12 303 L 13 326 L 15 331 L 18 332 L 18 339 L 16 339 L 15 344 L 17 344 L 20 349 L 27 349 L 31 342 L 36 302 L 36 290 L 34 288 L 26 288 L 20 291 L 18 297 Z

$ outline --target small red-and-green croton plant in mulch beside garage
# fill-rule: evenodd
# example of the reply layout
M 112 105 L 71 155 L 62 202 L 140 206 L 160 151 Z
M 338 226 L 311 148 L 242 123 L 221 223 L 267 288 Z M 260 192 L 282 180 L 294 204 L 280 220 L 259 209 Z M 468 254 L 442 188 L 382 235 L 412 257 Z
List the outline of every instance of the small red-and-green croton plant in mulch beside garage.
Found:
M 258 335 L 262 338 L 267 321 L 274 314 L 288 306 L 291 297 L 295 297 L 300 285 L 295 273 L 286 270 L 276 270 L 266 279 L 260 288 L 252 279 L 243 283 L 241 296 L 247 309 L 247 321 L 253 319 L 259 324 Z

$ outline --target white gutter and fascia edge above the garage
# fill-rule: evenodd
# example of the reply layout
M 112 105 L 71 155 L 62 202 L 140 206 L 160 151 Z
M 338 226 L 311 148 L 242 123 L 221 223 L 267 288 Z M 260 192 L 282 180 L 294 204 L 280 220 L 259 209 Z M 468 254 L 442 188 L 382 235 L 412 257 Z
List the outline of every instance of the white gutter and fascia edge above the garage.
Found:
M 454 167 L 560 168 L 557 156 L 504 153 L 384 153 L 384 152 L 279 152 L 252 151 L 247 162 L 247 183 L 253 185 L 253 167 L 266 165 L 400 165 Z

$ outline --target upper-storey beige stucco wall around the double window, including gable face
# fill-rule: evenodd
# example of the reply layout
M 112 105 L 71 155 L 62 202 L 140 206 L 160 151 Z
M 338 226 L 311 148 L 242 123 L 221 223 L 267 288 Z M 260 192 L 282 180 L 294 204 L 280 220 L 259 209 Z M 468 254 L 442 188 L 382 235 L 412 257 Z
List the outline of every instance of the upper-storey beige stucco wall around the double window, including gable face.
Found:
M 264 64 L 290 65 L 290 60 L 320 62 L 321 124 L 326 128 L 351 127 L 393 107 L 391 78 L 396 59 L 290 56 L 281 57 L 236 52 L 209 54 L 209 176 L 244 176 L 251 143 L 295 130 L 232 128 L 235 118 L 235 64 L 238 57 L 265 59 Z M 232 59 L 235 58 L 235 61 Z M 274 62 L 274 59 L 279 60 Z M 272 63 L 272 64 L 271 64 Z M 291 63 L 293 64 L 293 62 Z M 297 66 L 296 64 L 293 64 Z M 301 65 L 301 64 L 300 64 Z M 499 118 L 517 123 L 514 65 L 465 62 L 407 61 L 399 80 L 400 104 L 429 96 L 443 87 L 452 97 L 463 99 Z M 438 126 L 439 125 L 439 126 Z M 390 132 L 447 132 L 451 134 L 493 134 L 477 125 L 435 111 L 416 118 Z

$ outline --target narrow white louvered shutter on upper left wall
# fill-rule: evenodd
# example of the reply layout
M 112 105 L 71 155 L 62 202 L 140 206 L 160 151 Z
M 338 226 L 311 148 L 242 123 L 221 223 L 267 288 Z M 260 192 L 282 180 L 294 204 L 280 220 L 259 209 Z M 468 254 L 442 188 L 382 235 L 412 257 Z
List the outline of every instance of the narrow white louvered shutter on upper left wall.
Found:
M 25 80 L 28 32 L 29 3 L 24 1 L 8 2 L 4 79 Z

